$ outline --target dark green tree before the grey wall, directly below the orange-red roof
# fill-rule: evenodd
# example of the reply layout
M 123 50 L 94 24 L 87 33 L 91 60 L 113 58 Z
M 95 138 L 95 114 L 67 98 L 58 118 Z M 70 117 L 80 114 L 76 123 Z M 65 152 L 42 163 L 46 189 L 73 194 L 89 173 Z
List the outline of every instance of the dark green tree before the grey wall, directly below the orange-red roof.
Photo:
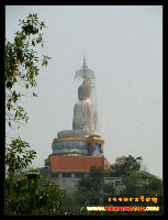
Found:
M 104 170 L 102 168 L 90 167 L 90 173 L 82 177 L 76 185 L 75 193 L 69 198 L 68 204 L 65 200 L 63 210 L 68 207 L 68 212 L 99 215 L 103 212 L 88 212 L 87 206 L 104 206 L 104 200 L 116 196 L 116 189 L 113 184 L 104 184 Z

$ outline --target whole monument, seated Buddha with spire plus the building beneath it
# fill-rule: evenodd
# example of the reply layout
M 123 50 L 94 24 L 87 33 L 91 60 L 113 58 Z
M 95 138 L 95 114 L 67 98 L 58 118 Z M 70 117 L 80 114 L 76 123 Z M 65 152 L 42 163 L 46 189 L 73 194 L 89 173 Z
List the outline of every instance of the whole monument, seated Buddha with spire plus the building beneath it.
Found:
M 52 154 L 45 160 L 56 186 L 71 193 L 79 180 L 89 174 L 90 166 L 104 167 L 110 163 L 103 155 L 104 140 L 98 134 L 98 105 L 94 74 L 86 58 L 75 79 L 82 78 L 78 88 L 79 101 L 74 107 L 72 129 L 63 130 L 53 140 Z

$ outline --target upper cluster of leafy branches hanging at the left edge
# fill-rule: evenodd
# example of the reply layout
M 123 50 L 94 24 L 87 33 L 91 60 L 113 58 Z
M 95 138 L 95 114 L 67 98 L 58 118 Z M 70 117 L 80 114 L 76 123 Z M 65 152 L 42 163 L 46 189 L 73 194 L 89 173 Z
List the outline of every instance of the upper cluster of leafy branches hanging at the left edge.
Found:
M 29 14 L 26 20 L 20 21 L 21 31 L 15 32 L 14 43 L 5 40 L 5 120 L 10 128 L 13 128 L 13 122 L 21 125 L 24 120 L 27 123 L 29 117 L 24 113 L 24 109 L 18 105 L 21 97 L 26 97 L 25 94 L 16 91 L 14 85 L 18 82 L 26 89 L 37 86 L 36 76 L 40 69 L 37 67 L 38 57 L 32 47 L 36 44 L 44 46 L 43 33 L 40 33 L 46 28 L 44 22 L 40 22 L 37 14 Z M 47 61 L 51 57 L 42 58 L 42 66 L 47 66 Z M 37 97 L 33 92 L 33 97 Z

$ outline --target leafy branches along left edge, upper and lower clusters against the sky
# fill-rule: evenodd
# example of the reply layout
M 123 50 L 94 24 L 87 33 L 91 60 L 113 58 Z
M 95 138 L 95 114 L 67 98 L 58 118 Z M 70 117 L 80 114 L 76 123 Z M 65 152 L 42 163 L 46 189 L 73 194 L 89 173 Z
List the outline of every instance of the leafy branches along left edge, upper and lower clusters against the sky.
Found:
M 24 121 L 27 123 L 29 117 L 19 103 L 26 95 L 16 91 L 15 85 L 19 84 L 26 89 L 30 86 L 37 86 L 35 77 L 40 73 L 36 66 L 38 57 L 35 56 L 36 52 L 32 47 L 36 44 L 42 44 L 43 47 L 41 31 L 46 28 L 44 22 L 38 21 L 37 14 L 29 14 L 25 21 L 19 21 L 21 31 L 15 32 L 14 43 L 5 40 L 5 125 L 12 130 L 15 130 L 15 124 L 19 129 Z M 42 66 L 46 66 L 49 58 L 43 55 Z M 37 95 L 33 92 L 33 96 Z M 5 165 L 11 177 L 14 176 L 15 170 L 26 167 L 34 160 L 36 153 L 29 151 L 29 143 L 22 141 L 20 136 L 13 139 L 5 133 Z

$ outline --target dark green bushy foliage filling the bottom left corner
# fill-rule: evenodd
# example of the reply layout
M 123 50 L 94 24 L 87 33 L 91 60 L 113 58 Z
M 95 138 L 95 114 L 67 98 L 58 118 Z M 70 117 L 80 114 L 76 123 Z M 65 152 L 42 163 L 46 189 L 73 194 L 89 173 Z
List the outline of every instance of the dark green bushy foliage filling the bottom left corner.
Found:
M 5 179 L 8 215 L 54 215 L 63 205 L 64 195 L 54 183 L 38 173 L 37 178 Z

